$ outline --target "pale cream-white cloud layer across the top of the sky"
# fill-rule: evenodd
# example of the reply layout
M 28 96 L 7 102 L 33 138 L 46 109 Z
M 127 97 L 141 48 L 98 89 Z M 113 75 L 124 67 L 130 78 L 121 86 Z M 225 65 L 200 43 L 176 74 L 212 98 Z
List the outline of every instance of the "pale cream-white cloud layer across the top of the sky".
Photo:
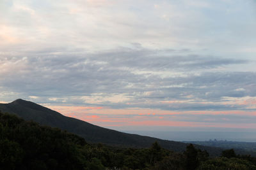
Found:
M 232 56 L 234 50 L 253 48 L 254 13 L 251 4 L 239 1 L 4 1 L 0 25 L 15 28 L 9 35 L 23 40 L 19 48 L 95 52 L 141 43 Z M 9 47 L 8 41 L 2 46 Z

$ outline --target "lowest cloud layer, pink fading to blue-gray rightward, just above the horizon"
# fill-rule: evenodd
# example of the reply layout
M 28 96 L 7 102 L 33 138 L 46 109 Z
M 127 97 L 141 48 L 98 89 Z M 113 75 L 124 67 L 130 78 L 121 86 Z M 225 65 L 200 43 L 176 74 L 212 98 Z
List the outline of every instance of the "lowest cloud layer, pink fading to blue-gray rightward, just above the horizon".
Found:
M 76 117 L 102 126 L 124 125 L 155 127 L 243 127 L 255 128 L 255 111 L 172 111 L 133 108 L 113 110 L 93 107 L 49 106 L 68 117 Z

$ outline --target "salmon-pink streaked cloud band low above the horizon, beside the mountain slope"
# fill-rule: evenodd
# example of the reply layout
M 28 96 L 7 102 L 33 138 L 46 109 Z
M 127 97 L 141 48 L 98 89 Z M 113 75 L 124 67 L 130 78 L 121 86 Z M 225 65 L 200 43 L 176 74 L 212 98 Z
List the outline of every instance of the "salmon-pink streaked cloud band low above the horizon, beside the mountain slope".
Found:
M 169 126 L 169 127 L 225 127 L 225 128 L 256 128 L 256 124 L 214 122 L 175 121 L 172 118 L 182 115 L 248 115 L 256 116 L 256 111 L 164 111 L 142 108 L 111 109 L 93 106 L 48 106 L 67 117 L 75 117 L 103 127 L 115 126 Z M 222 120 L 228 120 L 223 118 Z M 211 122 L 212 121 L 212 122 Z

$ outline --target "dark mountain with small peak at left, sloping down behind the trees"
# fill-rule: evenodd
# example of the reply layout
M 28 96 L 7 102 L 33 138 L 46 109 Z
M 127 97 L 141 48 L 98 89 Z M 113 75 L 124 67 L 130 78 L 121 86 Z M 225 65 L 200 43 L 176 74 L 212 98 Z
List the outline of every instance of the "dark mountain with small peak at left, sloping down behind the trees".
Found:
M 57 111 L 50 110 L 39 104 L 24 101 L 22 99 L 17 99 L 8 104 L 0 104 L 0 110 L 2 112 L 13 113 L 25 120 L 33 120 L 41 125 L 58 127 L 62 130 L 72 132 L 91 143 L 105 143 L 114 146 L 144 148 L 150 147 L 152 143 L 157 141 L 163 148 L 175 152 L 183 152 L 188 145 L 187 143 L 177 141 L 168 141 L 106 129 L 76 118 L 65 117 Z M 220 155 L 221 153 L 221 148 L 200 145 L 195 145 L 195 147 L 200 148 L 201 150 L 207 150 L 210 155 Z

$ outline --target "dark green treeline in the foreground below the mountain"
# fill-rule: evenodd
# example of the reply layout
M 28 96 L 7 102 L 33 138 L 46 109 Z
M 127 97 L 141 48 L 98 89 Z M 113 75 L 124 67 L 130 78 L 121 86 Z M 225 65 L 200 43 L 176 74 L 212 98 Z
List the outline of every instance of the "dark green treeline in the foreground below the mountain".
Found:
M 75 134 L 0 111 L 0 169 L 256 169 L 256 159 L 225 150 L 209 158 L 188 145 L 184 153 L 89 144 Z

